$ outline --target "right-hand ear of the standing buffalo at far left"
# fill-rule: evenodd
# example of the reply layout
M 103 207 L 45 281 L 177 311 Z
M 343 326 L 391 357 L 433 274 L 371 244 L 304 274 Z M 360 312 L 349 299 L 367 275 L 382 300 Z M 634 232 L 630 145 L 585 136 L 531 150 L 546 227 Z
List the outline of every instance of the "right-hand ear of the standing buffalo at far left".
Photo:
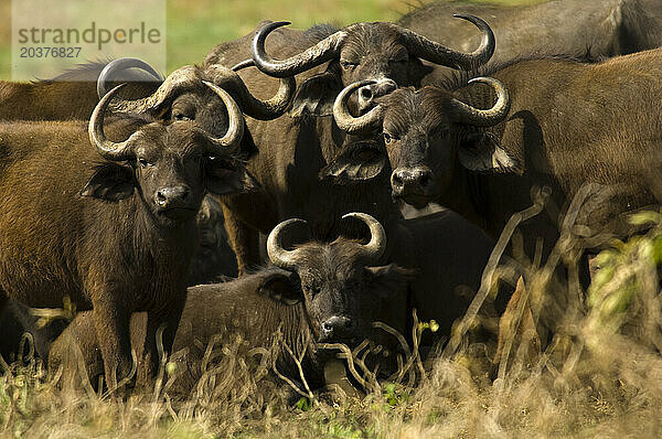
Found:
M 259 184 L 241 161 L 215 158 L 207 162 L 204 185 L 210 193 L 227 195 L 250 192 Z

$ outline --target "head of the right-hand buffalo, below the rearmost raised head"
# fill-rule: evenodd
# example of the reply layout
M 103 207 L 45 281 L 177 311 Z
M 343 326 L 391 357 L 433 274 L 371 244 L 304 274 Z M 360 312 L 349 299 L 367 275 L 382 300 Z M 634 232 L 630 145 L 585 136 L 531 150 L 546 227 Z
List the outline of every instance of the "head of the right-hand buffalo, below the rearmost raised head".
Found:
M 382 131 L 393 173 L 394 197 L 421 208 L 446 193 L 457 167 L 470 171 L 512 171 L 519 163 L 501 149 L 495 137 L 480 128 L 505 120 L 510 98 L 496 79 L 478 77 L 470 83 L 489 85 L 496 101 L 489 109 L 467 105 L 438 87 L 416 92 L 401 88 L 378 99 L 367 114 L 353 117 L 348 96 L 366 82 L 352 84 L 338 96 L 334 117 L 346 132 Z

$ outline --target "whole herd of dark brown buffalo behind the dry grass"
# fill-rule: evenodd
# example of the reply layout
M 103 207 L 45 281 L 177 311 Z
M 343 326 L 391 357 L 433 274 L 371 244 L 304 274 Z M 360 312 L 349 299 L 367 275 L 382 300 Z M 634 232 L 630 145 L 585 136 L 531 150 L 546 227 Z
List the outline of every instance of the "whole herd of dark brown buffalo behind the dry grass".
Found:
M 660 205 L 656 0 L 288 24 L 167 77 L 118 58 L 0 82 L 0 364 L 30 352 L 55 373 L 76 351 L 114 389 L 171 357 L 190 389 L 209 346 L 239 334 L 276 346 L 288 383 L 329 384 L 342 345 L 388 376 L 412 345 L 440 352 L 500 259 L 491 331 L 466 334 L 494 346 L 525 271 L 495 243 L 536 193 L 557 208 L 519 247 L 543 261 L 586 183 L 613 190 L 598 229 Z M 70 318 L 34 315 L 64 303 Z M 418 340 L 419 322 L 435 331 Z

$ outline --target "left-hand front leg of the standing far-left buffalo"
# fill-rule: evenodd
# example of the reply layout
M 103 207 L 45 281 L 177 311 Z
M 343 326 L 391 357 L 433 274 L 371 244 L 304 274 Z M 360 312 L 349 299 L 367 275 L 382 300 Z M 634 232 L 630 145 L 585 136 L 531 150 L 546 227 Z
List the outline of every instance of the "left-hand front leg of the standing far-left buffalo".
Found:
M 131 314 L 108 300 L 93 303 L 93 314 L 106 383 L 108 389 L 114 389 L 129 376 L 134 365 L 129 330 Z

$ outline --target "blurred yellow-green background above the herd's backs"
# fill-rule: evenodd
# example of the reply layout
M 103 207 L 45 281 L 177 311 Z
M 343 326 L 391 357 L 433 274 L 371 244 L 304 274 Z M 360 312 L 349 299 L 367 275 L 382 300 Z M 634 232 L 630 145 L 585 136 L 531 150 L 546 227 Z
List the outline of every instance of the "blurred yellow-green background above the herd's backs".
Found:
M 108 4 L 119 7 L 121 1 Z M 476 0 L 480 1 L 484 0 Z M 395 21 L 427 2 L 429 0 L 167 0 L 168 72 L 184 64 L 202 63 L 214 45 L 248 33 L 264 19 L 288 20 L 300 29 L 314 23 Z M 491 2 L 522 4 L 536 0 Z M 53 7 L 57 8 L 57 0 L 53 0 Z M 11 0 L 0 0 L 0 79 L 11 78 L 10 46 Z

